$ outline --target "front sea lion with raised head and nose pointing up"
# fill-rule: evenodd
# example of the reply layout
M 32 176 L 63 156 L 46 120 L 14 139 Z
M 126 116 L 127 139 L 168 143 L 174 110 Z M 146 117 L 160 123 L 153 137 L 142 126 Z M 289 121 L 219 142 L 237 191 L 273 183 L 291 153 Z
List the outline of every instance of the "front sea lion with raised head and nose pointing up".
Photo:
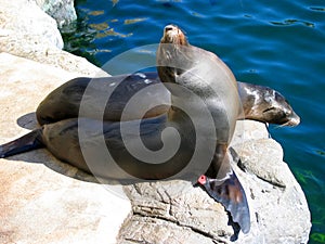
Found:
M 187 49 L 182 50 L 182 47 Z M 170 91 L 171 106 L 166 114 L 130 121 L 100 121 L 87 117 L 64 119 L 43 125 L 1 145 L 0 157 L 46 146 L 57 158 L 80 169 L 118 180 L 130 179 L 130 176 L 136 180 L 169 179 L 188 165 L 193 171 L 185 171 L 185 175 L 191 172 L 197 177 L 212 165 L 208 175 L 217 177 L 224 190 L 220 191 L 220 202 L 231 209 L 234 220 L 247 233 L 249 209 L 243 197 L 245 192 L 231 169 L 234 158 L 227 151 L 240 111 L 235 77 L 214 54 L 190 46 L 183 33 L 172 25 L 165 28 L 157 53 L 159 77 Z M 179 68 L 180 63 L 185 66 Z M 186 113 L 182 111 L 184 107 Z M 126 134 L 121 128 L 126 128 Z M 140 132 L 134 128 L 140 128 Z M 174 130 L 170 128 L 178 131 L 177 147 Z M 139 136 L 152 151 L 144 160 L 128 152 L 128 149 L 136 151 Z M 106 150 L 102 150 L 102 140 Z M 127 149 L 125 143 L 130 147 Z M 104 152 L 107 149 L 119 167 L 107 160 Z M 164 163 L 153 164 L 160 151 Z M 198 156 L 197 151 L 200 152 Z

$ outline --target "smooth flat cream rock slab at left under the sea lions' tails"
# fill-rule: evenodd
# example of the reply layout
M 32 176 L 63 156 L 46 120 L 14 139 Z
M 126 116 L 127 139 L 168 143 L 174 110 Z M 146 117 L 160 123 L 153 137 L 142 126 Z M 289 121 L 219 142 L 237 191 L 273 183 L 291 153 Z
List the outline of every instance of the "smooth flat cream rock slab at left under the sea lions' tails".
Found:
M 0 144 L 37 127 L 35 110 L 78 74 L 0 54 Z M 130 203 L 47 150 L 0 159 L 0 243 L 115 243 Z

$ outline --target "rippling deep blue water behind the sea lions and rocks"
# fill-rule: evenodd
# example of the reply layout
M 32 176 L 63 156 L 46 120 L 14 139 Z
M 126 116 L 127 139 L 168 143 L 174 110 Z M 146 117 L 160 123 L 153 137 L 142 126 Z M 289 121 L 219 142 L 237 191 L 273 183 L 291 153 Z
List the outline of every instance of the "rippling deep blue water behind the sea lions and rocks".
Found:
M 131 48 L 157 43 L 173 23 L 192 44 L 217 53 L 237 80 L 281 91 L 301 124 L 271 127 L 271 133 L 308 198 L 310 243 L 325 243 L 325 1 L 134 2 L 77 0 L 79 20 L 64 35 L 65 48 L 101 66 Z

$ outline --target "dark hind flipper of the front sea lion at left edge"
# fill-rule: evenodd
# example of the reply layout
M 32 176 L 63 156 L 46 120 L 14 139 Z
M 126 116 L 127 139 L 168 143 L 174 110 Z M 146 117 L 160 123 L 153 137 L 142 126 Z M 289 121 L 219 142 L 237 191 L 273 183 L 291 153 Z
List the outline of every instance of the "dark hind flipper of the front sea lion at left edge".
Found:
M 14 141 L 0 145 L 0 158 L 41 147 L 43 147 L 42 129 L 36 129 Z

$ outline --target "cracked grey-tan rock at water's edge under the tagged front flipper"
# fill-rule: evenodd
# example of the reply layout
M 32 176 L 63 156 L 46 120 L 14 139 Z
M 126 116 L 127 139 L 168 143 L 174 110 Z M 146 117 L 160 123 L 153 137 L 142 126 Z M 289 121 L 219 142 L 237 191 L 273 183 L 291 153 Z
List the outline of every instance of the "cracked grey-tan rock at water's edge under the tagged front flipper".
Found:
M 265 126 L 238 121 L 233 146 L 246 172 L 233 166 L 245 188 L 251 230 L 244 235 L 229 215 L 200 188 L 184 181 L 139 183 L 125 188 L 133 215 L 120 231 L 120 243 L 307 243 L 311 228 L 303 192 L 282 147 Z

